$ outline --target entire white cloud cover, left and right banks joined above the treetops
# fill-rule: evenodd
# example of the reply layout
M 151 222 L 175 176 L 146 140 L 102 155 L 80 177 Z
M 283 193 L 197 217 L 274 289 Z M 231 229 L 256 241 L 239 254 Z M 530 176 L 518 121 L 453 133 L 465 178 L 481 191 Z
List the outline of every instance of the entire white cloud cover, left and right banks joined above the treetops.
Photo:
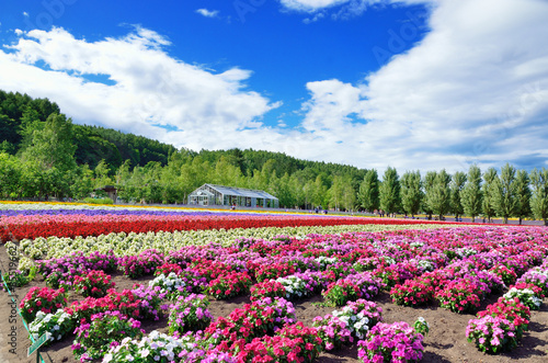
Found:
M 294 2 L 318 9 L 350 3 Z M 429 33 L 403 54 L 380 44 L 395 56 L 362 82 L 304 84 L 309 99 L 295 110 L 302 121 L 293 128 L 262 123 L 281 103 L 247 87 L 251 70 L 215 72 L 174 59 L 169 39 L 139 27 L 98 42 L 62 29 L 20 33 L 16 44 L 0 50 L 0 88 L 47 97 L 80 123 L 196 150 L 252 147 L 401 172 L 453 172 L 471 162 L 546 166 L 548 3 L 427 3 Z

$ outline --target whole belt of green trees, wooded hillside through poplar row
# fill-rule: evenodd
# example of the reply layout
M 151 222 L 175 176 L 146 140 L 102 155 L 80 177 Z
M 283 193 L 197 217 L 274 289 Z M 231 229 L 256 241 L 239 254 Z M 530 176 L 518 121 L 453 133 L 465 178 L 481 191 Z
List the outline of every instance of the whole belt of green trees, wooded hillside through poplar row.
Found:
M 127 202 L 185 203 L 204 183 L 264 190 L 282 207 L 453 214 L 548 224 L 548 170 L 376 170 L 258 150 L 175 149 L 114 129 L 72 124 L 47 99 L 0 91 L 0 198 L 83 198 L 116 185 Z

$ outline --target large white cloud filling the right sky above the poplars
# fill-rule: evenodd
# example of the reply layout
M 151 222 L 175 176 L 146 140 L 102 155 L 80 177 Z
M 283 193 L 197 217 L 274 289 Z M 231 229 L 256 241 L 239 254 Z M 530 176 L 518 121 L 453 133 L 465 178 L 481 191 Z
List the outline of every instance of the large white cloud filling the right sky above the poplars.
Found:
M 364 84 L 308 83 L 302 125 L 344 140 L 330 160 L 379 169 L 546 159 L 547 16 L 537 0 L 441 1 L 425 38 Z

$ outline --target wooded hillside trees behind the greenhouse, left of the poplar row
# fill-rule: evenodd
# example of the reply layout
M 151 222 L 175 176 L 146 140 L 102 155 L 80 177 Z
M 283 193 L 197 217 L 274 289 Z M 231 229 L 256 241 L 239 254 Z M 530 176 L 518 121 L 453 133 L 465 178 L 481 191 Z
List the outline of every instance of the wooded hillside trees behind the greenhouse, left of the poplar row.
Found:
M 267 190 L 284 206 L 311 207 L 328 206 L 332 185 L 347 204 L 365 175 L 355 167 L 281 152 L 178 150 L 140 136 L 75 125 L 47 99 L 3 91 L 0 131 L 1 198 L 81 198 L 112 184 L 128 202 L 184 203 L 207 182 Z M 342 207 L 342 197 L 333 200 Z

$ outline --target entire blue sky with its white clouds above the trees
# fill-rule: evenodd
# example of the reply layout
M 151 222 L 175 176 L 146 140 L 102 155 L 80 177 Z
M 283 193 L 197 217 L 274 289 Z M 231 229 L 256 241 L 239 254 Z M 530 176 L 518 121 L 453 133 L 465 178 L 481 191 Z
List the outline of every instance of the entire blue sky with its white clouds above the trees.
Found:
M 1 0 L 0 89 L 178 148 L 548 167 L 548 0 Z

